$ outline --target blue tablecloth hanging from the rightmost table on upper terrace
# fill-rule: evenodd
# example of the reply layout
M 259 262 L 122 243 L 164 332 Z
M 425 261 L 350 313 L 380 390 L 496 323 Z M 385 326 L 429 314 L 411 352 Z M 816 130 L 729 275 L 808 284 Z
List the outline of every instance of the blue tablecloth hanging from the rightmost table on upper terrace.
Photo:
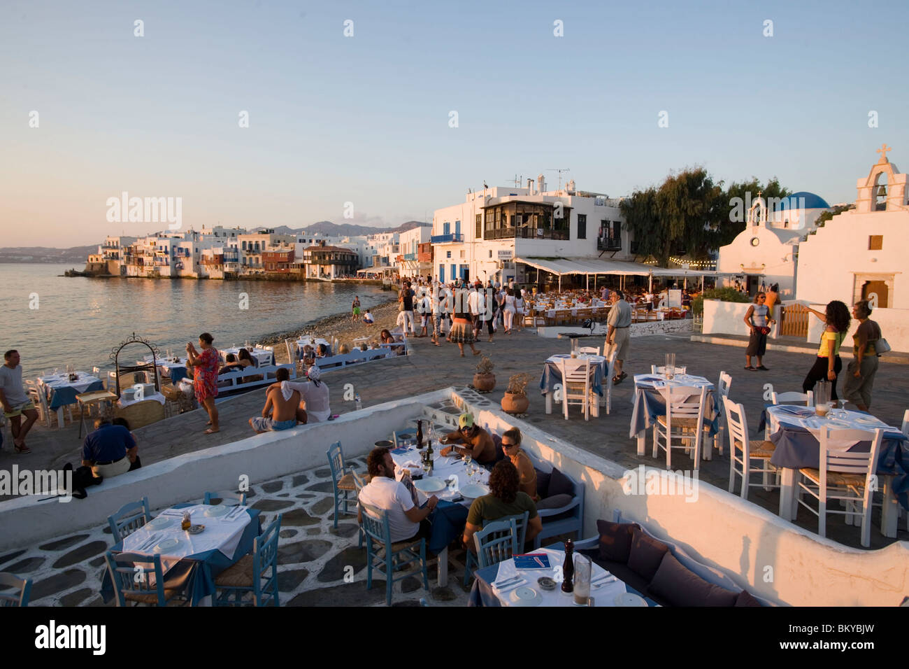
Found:
M 776 448 L 771 464 L 789 469 L 810 467 L 821 463 L 821 444 L 811 431 L 802 426 L 787 424 L 785 416 L 776 415 L 780 429 L 770 436 Z M 861 429 L 873 430 L 873 427 Z M 868 451 L 870 441 L 859 441 L 849 451 Z M 894 477 L 894 494 L 904 509 L 909 509 L 909 438 L 899 431 L 884 431 L 877 459 L 878 476 Z

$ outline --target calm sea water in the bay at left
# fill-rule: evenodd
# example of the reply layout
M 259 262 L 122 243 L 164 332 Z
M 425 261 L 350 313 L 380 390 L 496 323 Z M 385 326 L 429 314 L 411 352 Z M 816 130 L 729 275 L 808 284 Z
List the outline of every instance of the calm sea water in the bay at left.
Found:
M 60 276 L 70 265 L 0 264 L 0 350 L 17 349 L 25 378 L 67 364 L 113 369 L 111 350 L 133 332 L 164 354 L 198 346 L 200 333 L 216 348 L 304 327 L 349 312 L 355 295 L 364 307 L 390 299 L 376 286 L 295 281 L 195 279 L 85 279 Z M 240 309 L 241 293 L 249 296 Z M 125 349 L 135 364 L 144 347 Z M 146 350 L 147 351 L 147 350 Z

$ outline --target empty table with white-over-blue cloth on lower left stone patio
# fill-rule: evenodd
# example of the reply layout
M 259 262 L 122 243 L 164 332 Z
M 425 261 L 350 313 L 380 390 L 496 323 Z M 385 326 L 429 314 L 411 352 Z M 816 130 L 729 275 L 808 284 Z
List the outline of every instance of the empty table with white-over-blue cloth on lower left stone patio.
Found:
M 262 523 L 258 509 L 244 507 L 244 511 L 238 512 L 235 518 L 224 520 L 222 516 L 206 516 L 205 510 L 211 508 L 209 504 L 175 504 L 157 516 L 172 518 L 174 522 L 170 527 L 155 530 L 148 529 L 146 524 L 122 542 L 116 543 L 111 552 L 138 552 L 135 549 L 141 547 L 155 533 L 159 534 L 158 541 L 180 539 L 180 544 L 172 552 L 162 553 L 161 570 L 166 578 L 168 570 L 181 560 L 198 563 L 193 582 L 189 585 L 191 602 L 193 606 L 205 603 L 203 600 L 206 597 L 215 594 L 215 576 L 253 550 L 253 542 L 259 535 Z M 190 534 L 180 529 L 183 512 L 187 509 L 194 525 L 205 525 L 204 532 Z M 145 551 L 142 553 L 153 554 Z M 102 579 L 101 596 L 105 603 L 115 597 L 114 581 L 111 579 L 110 571 L 105 571 Z

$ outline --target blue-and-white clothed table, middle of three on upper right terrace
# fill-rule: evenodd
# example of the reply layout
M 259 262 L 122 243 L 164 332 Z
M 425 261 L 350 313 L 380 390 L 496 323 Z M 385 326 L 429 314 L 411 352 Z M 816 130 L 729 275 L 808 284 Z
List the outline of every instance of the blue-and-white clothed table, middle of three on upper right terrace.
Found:
M 711 390 L 707 393 L 705 399 L 707 406 L 704 407 L 704 425 L 710 426 L 710 441 L 705 443 L 701 450 L 701 457 L 704 460 L 711 460 L 714 451 L 713 438 L 720 427 L 719 402 L 714 398 L 714 384 L 704 379 L 703 376 L 676 374 L 672 380 L 667 380 L 658 374 L 635 374 L 634 398 L 632 398 L 634 408 L 631 414 L 631 431 L 628 436 L 633 439 L 637 437 L 637 454 L 644 455 L 647 428 L 654 425 L 657 416 L 664 416 L 666 413 L 666 400 L 660 393 L 660 389 L 679 386 L 691 386 L 697 389 L 706 386 Z

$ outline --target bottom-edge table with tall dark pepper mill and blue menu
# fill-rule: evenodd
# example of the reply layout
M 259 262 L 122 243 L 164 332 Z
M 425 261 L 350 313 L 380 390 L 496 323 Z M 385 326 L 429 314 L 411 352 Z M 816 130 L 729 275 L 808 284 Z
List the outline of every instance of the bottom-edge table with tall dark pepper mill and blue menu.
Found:
M 573 593 L 562 592 L 564 548 L 561 545 L 554 544 L 528 553 L 532 556 L 545 555 L 548 568 L 519 569 L 512 557 L 476 570 L 468 606 L 579 605 L 574 603 Z M 539 579 L 544 577 L 555 582 L 554 589 L 541 587 Z M 591 562 L 590 582 L 590 597 L 594 606 L 656 606 L 656 603 L 645 600 L 641 593 L 594 562 Z

